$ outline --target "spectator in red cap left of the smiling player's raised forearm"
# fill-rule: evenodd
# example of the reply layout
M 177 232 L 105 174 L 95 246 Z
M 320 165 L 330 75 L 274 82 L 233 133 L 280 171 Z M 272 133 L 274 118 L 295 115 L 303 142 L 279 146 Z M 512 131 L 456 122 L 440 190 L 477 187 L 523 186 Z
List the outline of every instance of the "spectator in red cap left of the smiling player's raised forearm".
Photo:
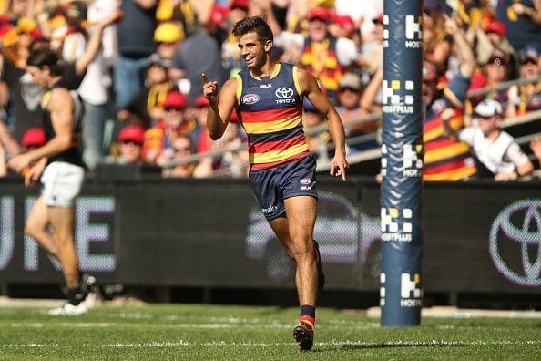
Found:
M 156 163 L 158 158 L 165 162 L 173 156 L 173 140 L 180 135 L 189 136 L 196 124 L 192 119 L 186 119 L 188 98 L 178 88 L 168 91 L 162 103 L 163 117 L 158 123 L 145 132 L 143 157 L 149 163 Z

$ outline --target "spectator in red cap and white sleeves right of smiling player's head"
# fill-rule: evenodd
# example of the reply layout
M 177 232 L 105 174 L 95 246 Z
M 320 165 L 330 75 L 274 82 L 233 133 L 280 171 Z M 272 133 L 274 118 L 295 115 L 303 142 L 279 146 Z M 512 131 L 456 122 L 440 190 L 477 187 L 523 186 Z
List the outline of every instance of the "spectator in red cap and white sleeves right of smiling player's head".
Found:
M 331 36 L 328 26 L 332 13 L 328 8 L 312 8 L 308 12 L 307 20 L 308 36 L 281 31 L 275 22 L 269 22 L 276 35 L 274 44 L 282 48 L 301 49 L 298 65 L 306 68 L 319 81 L 327 97 L 336 103 L 338 83 L 345 68 L 366 67 L 367 63 L 352 39 Z

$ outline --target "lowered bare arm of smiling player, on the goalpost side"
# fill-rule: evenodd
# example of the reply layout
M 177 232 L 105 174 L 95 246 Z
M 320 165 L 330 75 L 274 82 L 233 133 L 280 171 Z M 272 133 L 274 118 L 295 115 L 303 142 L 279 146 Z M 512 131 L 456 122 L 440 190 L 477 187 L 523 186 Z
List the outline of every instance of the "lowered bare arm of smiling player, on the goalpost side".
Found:
M 299 69 L 299 83 L 304 96 L 308 97 L 311 104 L 324 114 L 328 121 L 329 132 L 335 146 L 330 174 L 346 180 L 346 169 L 349 168 L 349 164 L 345 157 L 345 132 L 342 119 L 332 106 L 329 98 L 325 97 L 322 93 L 322 89 L 319 87 L 316 79 L 308 71 Z

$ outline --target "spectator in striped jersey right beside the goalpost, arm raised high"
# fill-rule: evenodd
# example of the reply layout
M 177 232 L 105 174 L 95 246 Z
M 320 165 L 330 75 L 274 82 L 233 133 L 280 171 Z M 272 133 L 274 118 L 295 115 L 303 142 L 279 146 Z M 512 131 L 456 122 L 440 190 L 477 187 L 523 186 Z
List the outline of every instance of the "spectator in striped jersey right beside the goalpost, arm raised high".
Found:
M 458 71 L 446 84 L 438 86 L 438 75 L 433 64 L 424 61 L 423 102 L 425 108 L 424 180 L 468 180 L 475 176 L 475 161 L 470 147 L 456 139 L 448 139 L 444 121 L 457 130 L 464 127 L 464 101 L 470 77 L 476 63 L 474 52 L 467 43 L 464 31 L 453 18 L 445 21 L 445 31 L 453 36 Z

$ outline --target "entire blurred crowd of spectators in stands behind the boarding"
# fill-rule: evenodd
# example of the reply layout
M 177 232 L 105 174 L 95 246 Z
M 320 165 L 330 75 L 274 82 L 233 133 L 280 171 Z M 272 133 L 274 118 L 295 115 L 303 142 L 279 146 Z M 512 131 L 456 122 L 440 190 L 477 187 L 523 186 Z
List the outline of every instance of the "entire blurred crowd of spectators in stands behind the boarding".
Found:
M 209 139 L 201 73 L 223 84 L 244 67 L 230 29 L 250 15 L 271 25 L 274 57 L 318 79 L 344 120 L 348 154 L 378 147 L 381 119 L 369 116 L 381 112 L 383 0 L 0 0 L 0 14 L 0 176 L 9 171 L 6 160 L 46 141 L 43 89 L 26 72 L 39 46 L 73 65 L 63 86 L 77 90 L 84 108 L 88 170 L 138 163 L 162 167 L 164 177 L 245 176 L 237 114 L 225 137 Z M 505 133 L 502 119 L 541 109 L 538 79 L 497 88 L 541 75 L 541 0 L 424 0 L 423 36 L 425 180 L 530 174 L 524 152 L 507 151 L 513 139 L 493 138 Z M 479 88 L 493 90 L 467 97 Z M 488 109 L 486 98 L 501 111 L 493 103 Z M 325 123 L 309 102 L 304 110 L 307 129 Z M 461 130 L 489 120 L 494 136 L 482 132 L 477 144 L 461 138 Z M 307 140 L 319 152 L 331 138 L 322 131 Z M 498 164 L 488 173 L 479 144 L 497 150 L 489 152 Z M 539 157 L 541 140 L 530 147 Z M 190 157 L 213 151 L 219 155 Z

